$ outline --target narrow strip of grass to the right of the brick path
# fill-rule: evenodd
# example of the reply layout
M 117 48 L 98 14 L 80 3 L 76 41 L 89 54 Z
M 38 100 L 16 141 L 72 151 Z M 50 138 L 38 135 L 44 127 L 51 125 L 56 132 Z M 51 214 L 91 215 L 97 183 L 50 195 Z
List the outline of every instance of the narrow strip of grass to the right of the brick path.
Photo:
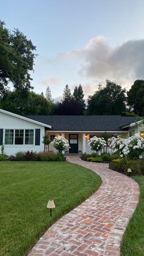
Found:
M 135 210 L 121 244 L 121 255 L 144 255 L 144 176 L 134 178 L 140 186 L 140 202 Z

